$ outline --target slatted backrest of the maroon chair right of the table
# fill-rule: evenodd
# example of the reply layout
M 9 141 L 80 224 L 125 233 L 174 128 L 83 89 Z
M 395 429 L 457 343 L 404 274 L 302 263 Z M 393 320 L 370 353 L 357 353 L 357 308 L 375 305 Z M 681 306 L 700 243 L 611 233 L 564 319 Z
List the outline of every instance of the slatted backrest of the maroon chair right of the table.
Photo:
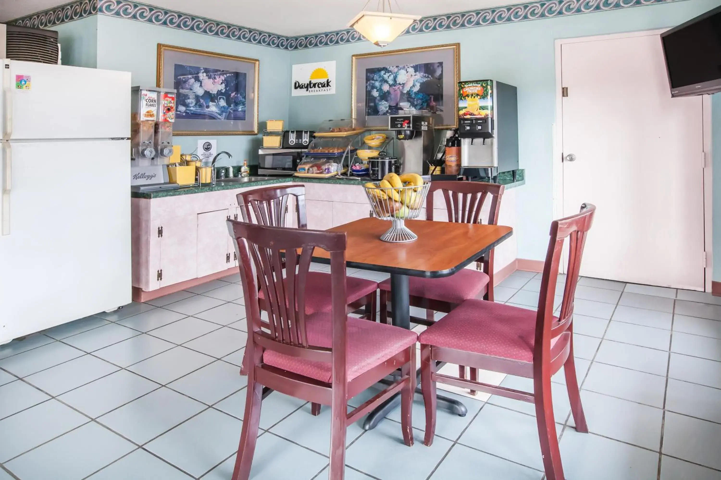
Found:
M 534 358 L 539 358 L 536 355 L 543 356 L 544 352 L 542 350 L 550 348 L 551 340 L 566 332 L 571 326 L 583 247 L 588 230 L 590 230 L 593 223 L 595 212 L 595 205 L 583 204 L 580 213 L 554 220 L 551 223 L 551 239 L 549 240 L 541 278 L 541 293 L 539 294 L 539 308 L 536 317 L 536 352 L 534 352 Z M 561 312 L 556 320 L 553 314 L 554 299 L 558 269 L 566 238 L 569 239 L 566 281 L 563 289 Z

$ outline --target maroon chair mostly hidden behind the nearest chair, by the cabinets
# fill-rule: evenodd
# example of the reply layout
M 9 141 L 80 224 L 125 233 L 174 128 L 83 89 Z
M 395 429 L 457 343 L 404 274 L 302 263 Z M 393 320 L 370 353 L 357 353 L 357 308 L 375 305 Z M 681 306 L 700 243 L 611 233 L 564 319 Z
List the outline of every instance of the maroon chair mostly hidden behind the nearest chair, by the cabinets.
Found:
M 301 229 L 308 228 L 306 219 L 306 187 L 293 186 L 267 186 L 239 193 L 236 198 L 241 207 L 241 214 L 245 222 L 255 222 L 259 225 L 272 227 L 286 227 L 288 219 L 288 200 L 291 196 L 296 200 L 296 222 Z M 252 214 L 251 214 L 252 211 Z M 310 272 L 306 281 L 311 288 L 306 297 L 306 314 L 314 312 L 328 312 L 330 310 L 331 278 L 327 272 Z M 359 308 L 365 309 L 365 317 L 376 321 L 376 291 L 378 282 L 348 277 L 346 281 L 348 292 L 348 306 L 351 311 Z M 259 292 L 261 308 L 265 309 L 265 296 Z

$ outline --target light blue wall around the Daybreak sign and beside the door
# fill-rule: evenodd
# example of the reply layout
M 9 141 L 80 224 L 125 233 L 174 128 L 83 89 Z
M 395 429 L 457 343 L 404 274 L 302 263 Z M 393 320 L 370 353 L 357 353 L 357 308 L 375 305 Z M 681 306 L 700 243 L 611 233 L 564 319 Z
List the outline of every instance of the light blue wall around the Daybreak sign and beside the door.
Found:
M 460 42 L 461 79 L 495 78 L 518 87 L 519 153 L 521 168 L 526 168 L 526 186 L 517 190 L 518 226 L 515 235 L 518 257 L 542 260 L 552 220 L 552 126 L 556 95 L 554 40 L 671 27 L 719 4 L 720 0 L 674 1 L 611 12 L 407 35 L 394 40 L 389 49 Z M 291 96 L 290 124 L 295 128 L 312 128 L 322 119 L 347 118 L 350 115 L 350 57 L 355 53 L 374 51 L 378 51 L 378 47 L 361 42 L 293 52 L 291 63 L 337 60 L 337 93 Z M 721 99 L 716 99 L 715 103 L 721 107 Z M 717 145 L 721 145 L 721 132 L 716 138 L 719 140 Z M 717 148 L 717 154 L 721 154 L 721 147 Z M 721 157 L 718 155 L 717 160 L 720 181 L 715 191 L 719 192 L 721 202 Z M 717 211 L 721 212 L 721 208 Z M 715 238 L 718 239 L 715 250 L 721 263 L 721 225 Z M 721 276 L 721 266 L 717 271 Z

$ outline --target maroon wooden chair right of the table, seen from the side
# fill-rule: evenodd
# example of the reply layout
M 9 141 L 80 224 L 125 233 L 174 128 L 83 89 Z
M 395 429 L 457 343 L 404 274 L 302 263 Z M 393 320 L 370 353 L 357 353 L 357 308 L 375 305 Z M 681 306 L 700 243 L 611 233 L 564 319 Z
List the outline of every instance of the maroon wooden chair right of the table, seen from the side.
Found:
M 573 301 L 585 236 L 596 207 L 583 204 L 579 214 L 551 223 L 538 312 L 485 300 L 466 300 L 420 334 L 421 383 L 425 401 L 425 445 L 435 433 L 435 384 L 460 386 L 536 405 L 546 478 L 563 480 L 553 415 L 551 376 L 563 367 L 573 420 L 588 433 L 573 359 Z M 559 317 L 554 294 L 565 239 L 570 237 L 568 269 Z M 458 363 L 534 380 L 534 391 L 518 391 L 436 372 L 436 362 Z

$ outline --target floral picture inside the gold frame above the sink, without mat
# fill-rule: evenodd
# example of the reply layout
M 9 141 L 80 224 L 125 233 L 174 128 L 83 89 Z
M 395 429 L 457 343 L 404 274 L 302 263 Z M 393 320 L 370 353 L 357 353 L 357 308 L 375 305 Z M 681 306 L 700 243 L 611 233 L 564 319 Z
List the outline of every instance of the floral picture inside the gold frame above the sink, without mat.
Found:
M 178 118 L 245 119 L 246 73 L 177 63 L 174 67 Z

